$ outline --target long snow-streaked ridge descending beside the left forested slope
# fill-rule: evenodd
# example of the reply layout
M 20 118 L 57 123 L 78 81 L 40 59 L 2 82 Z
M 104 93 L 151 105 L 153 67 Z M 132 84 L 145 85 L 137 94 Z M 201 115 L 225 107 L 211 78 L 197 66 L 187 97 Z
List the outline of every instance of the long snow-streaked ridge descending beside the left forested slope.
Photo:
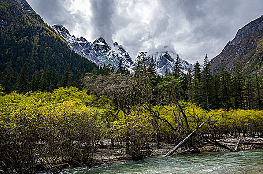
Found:
M 129 54 L 117 42 L 111 48 L 106 41 L 100 37 L 94 42 L 88 42 L 85 38 L 76 38 L 70 35 L 69 31 L 62 25 L 52 26 L 79 55 L 96 63 L 99 66 L 111 64 L 118 68 L 120 60 L 129 71 L 133 71 L 135 65 Z

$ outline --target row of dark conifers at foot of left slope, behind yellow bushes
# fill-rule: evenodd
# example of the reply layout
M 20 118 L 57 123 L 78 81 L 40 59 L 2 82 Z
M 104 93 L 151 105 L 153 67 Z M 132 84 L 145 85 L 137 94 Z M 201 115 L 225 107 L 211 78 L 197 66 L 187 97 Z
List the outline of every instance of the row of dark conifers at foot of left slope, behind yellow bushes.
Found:
M 19 74 L 15 68 L 12 68 L 11 63 L 8 63 L 0 76 L 0 84 L 6 93 L 14 90 L 19 93 L 25 93 L 30 90 L 50 92 L 58 87 L 81 87 L 80 79 L 83 77 L 84 73 L 81 71 L 79 71 L 77 76 L 74 76 L 69 64 L 60 78 L 58 71 L 52 67 L 48 67 L 46 71 L 42 72 L 35 71 L 30 77 L 27 62 L 24 63 Z

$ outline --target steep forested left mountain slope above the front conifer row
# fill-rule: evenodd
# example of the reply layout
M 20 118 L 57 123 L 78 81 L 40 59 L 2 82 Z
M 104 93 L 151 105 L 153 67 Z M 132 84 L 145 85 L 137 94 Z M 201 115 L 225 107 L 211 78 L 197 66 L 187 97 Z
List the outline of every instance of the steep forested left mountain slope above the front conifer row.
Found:
M 19 73 L 23 64 L 29 67 L 29 80 L 37 71 L 52 67 L 59 77 L 70 65 L 73 78 L 78 73 L 98 67 L 70 49 L 26 0 L 0 0 L 0 72 L 11 64 Z

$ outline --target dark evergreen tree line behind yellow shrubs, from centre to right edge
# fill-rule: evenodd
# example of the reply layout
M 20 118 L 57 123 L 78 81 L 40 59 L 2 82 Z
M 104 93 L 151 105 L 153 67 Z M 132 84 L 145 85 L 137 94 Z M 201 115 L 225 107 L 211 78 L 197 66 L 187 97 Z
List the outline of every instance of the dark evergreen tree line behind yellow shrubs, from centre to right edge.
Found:
M 221 70 L 220 73 L 212 74 L 210 63 L 207 55 L 205 55 L 203 67 L 196 62 L 193 70 L 189 69 L 187 74 L 183 73 L 182 65 L 177 55 L 174 71 L 169 73 L 166 71 L 164 77 L 157 75 L 155 71 L 155 63 L 153 57 L 149 60 L 146 52 L 141 52 L 136 58 L 137 67 L 132 78 L 140 81 L 146 78 L 147 86 L 150 86 L 152 92 L 152 104 L 160 104 L 162 101 L 175 102 L 184 100 L 200 105 L 203 109 L 211 110 L 217 108 L 225 109 L 263 109 L 263 85 L 262 75 L 259 70 L 247 76 L 241 70 L 241 66 L 237 61 L 232 74 Z M 150 63 L 149 63 L 150 62 Z M 110 70 L 110 67 L 104 66 L 102 75 L 108 76 L 115 72 Z M 117 74 L 129 74 L 122 62 L 120 62 Z M 171 85 L 170 93 L 174 95 L 164 99 L 164 94 L 161 93 L 160 83 L 164 85 L 171 84 L 176 81 L 176 87 Z M 159 84 L 159 85 L 158 85 Z M 104 89 L 103 89 L 104 90 Z M 92 89 L 90 89 L 92 91 Z M 174 99 L 173 99 L 174 98 Z M 144 99 L 145 102 L 145 99 Z M 138 103 L 143 103 L 137 101 Z

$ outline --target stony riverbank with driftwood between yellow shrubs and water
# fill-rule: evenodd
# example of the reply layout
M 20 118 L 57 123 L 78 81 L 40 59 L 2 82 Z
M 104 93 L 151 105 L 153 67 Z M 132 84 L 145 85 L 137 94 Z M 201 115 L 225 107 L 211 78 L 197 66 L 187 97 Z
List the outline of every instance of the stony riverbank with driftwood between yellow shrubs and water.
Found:
M 235 146 L 240 137 L 224 137 L 222 139 L 217 140 L 222 145 L 225 145 L 231 149 L 235 149 Z M 103 142 L 103 148 L 98 149 L 98 151 L 94 154 L 94 159 L 97 164 L 110 165 L 114 162 L 128 162 L 132 160 L 130 155 L 125 153 L 124 148 L 116 148 L 116 150 L 111 149 L 107 146 L 109 142 L 106 140 Z M 142 150 L 142 154 L 144 158 L 149 158 L 153 156 L 164 156 L 171 149 L 173 149 L 175 145 L 161 143 L 160 148 L 157 149 L 155 143 L 149 143 L 149 146 Z M 247 151 L 252 149 L 263 149 L 263 138 L 261 137 L 241 137 L 240 145 L 238 147 L 238 151 Z M 203 142 L 197 148 L 193 149 L 185 149 L 184 147 L 179 148 L 176 151 L 176 154 L 184 154 L 184 153 L 200 153 L 200 152 L 227 152 L 229 150 Z

